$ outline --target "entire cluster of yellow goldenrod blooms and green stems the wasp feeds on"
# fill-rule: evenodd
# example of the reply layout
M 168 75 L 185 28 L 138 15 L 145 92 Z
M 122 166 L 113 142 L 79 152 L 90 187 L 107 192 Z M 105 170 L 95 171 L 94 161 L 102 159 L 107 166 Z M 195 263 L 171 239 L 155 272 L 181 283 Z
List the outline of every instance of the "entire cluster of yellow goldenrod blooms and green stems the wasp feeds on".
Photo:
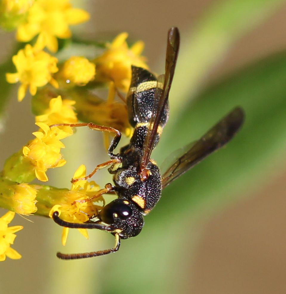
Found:
M 0 217 L 0 261 L 6 256 L 19 259 L 21 255 L 10 245 L 14 234 L 22 226 L 8 227 L 15 213 L 52 216 L 60 213 L 67 222 L 83 223 L 95 216 L 105 205 L 106 190 L 94 181 L 78 180 L 70 189 L 58 189 L 48 182 L 49 169 L 62 167 L 66 160 L 61 154 L 65 148 L 63 139 L 72 136 L 78 118 L 85 122 L 111 126 L 125 134 L 132 132 L 129 126 L 126 105 L 115 101 L 119 91 L 127 92 L 131 81 L 131 65 L 148 68 L 141 56 L 144 44 L 138 41 L 131 47 L 127 33 L 120 33 L 105 49 L 98 48 L 99 55 L 82 55 L 84 40 L 77 41 L 77 50 L 72 55 L 61 50 L 72 46 L 71 25 L 89 19 L 89 13 L 74 8 L 69 0 L 4 0 L 0 4 L 0 26 L 15 30 L 20 49 L 12 57 L 15 70 L 6 73 L 8 83 L 19 83 L 18 101 L 29 92 L 32 111 L 38 130 L 28 138 L 18 152 L 12 154 L 0 172 L 0 207 L 9 210 Z M 70 39 L 59 46 L 58 39 Z M 22 45 L 21 45 L 22 44 Z M 96 46 L 96 45 L 94 45 Z M 84 51 L 86 52 L 86 51 Z M 62 56 L 65 56 L 64 58 Z M 96 89 L 105 87 L 106 98 L 96 94 Z M 122 94 L 120 94 L 122 98 Z M 30 140 L 30 141 L 29 141 Z M 109 144 L 105 136 L 105 145 Z M 85 177 L 81 165 L 74 178 Z M 38 180 L 40 183 L 31 182 Z M 67 241 L 69 229 L 64 228 L 62 243 Z M 87 231 L 79 229 L 87 238 Z M 2 236 L 2 237 L 1 237 Z

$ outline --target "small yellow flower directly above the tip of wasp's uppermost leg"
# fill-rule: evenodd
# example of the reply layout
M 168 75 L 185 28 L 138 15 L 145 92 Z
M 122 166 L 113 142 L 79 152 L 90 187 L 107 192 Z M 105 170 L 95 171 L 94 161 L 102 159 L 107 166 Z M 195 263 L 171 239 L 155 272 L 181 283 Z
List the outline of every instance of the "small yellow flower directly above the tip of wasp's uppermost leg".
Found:
M 59 95 L 50 100 L 49 109 L 45 114 L 37 115 L 36 122 L 46 123 L 48 126 L 56 123 L 77 123 L 78 119 L 72 107 L 75 101 L 64 99 Z

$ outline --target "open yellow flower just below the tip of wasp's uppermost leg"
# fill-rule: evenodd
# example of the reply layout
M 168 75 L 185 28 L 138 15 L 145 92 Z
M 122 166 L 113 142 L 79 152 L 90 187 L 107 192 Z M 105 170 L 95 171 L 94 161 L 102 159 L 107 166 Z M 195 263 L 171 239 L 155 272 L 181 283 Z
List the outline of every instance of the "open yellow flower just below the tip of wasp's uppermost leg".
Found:
M 45 123 L 35 123 L 42 131 L 34 132 L 36 137 L 23 148 L 24 157 L 27 157 L 35 166 L 35 175 L 38 180 L 46 182 L 48 180 L 46 171 L 48 168 L 63 166 L 66 161 L 62 159 L 60 153 L 64 144 L 60 141 L 72 135 L 72 128 L 50 127 Z

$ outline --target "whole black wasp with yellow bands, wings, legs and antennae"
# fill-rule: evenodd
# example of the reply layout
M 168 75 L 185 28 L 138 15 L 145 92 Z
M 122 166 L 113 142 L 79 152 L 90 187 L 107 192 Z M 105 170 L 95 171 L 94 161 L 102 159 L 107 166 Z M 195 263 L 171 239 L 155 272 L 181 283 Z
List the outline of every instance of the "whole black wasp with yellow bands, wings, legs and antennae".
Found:
M 160 174 L 159 167 L 150 156 L 168 120 L 168 95 L 179 43 L 179 30 L 172 27 L 168 31 L 165 74 L 158 78 L 146 69 L 132 66 L 132 81 L 126 104 L 134 133 L 130 143 L 122 147 L 119 154 L 114 154 L 113 151 L 120 141 L 120 131 L 93 123 L 69 125 L 88 126 L 93 130 L 115 134 L 108 149 L 110 160 L 98 165 L 91 174 L 81 179 L 87 179 L 98 169 L 109 166 L 108 171 L 113 174 L 114 185 L 107 184 L 102 189 L 102 194 L 113 192 L 118 198 L 105 205 L 98 215 L 88 222 L 82 224 L 66 222 L 60 219 L 58 212 L 53 213 L 53 220 L 64 227 L 95 228 L 109 232 L 115 236 L 115 246 L 88 253 L 57 253 L 60 259 L 81 259 L 118 251 L 121 239 L 135 237 L 140 233 L 144 225 L 143 216 L 146 216 L 157 204 L 162 189 L 213 151 L 228 143 L 242 126 L 244 112 L 237 107 L 192 144 L 163 175 Z M 76 180 L 79 179 L 72 179 L 72 182 Z

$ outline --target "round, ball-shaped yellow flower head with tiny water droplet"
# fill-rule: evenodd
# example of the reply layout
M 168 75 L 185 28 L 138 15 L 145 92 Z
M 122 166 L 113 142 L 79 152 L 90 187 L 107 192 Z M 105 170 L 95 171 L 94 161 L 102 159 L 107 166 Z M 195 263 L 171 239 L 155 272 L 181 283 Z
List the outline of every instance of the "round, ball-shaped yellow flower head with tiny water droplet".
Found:
M 78 86 L 84 86 L 93 80 L 95 75 L 95 64 L 85 57 L 72 56 L 65 63 L 62 74 L 67 83 L 72 82 Z

